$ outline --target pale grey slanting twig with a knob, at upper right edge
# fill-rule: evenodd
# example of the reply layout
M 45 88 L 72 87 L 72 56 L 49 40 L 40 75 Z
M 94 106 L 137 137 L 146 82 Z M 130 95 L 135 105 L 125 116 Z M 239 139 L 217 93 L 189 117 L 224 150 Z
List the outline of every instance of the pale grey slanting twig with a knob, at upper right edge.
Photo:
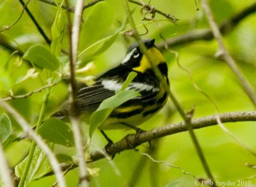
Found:
M 228 64 L 228 66 L 230 66 L 231 70 L 235 73 L 236 77 L 239 79 L 239 82 L 243 87 L 244 91 L 246 92 L 246 94 L 248 95 L 248 97 L 256 107 L 256 93 L 253 90 L 250 82 L 248 82 L 248 80 L 246 80 L 246 77 L 244 77 L 243 73 L 241 73 L 236 62 L 234 61 L 234 59 L 228 52 L 227 48 L 225 47 L 220 30 L 217 24 L 214 22 L 214 17 L 212 15 L 211 9 L 209 8 L 209 4 L 207 0 L 202 0 L 202 8 L 205 11 L 205 15 L 207 17 L 209 25 L 211 26 L 211 30 L 214 35 L 214 38 L 218 43 L 218 47 L 219 47 L 217 52 L 218 57 L 221 57 L 221 59 L 223 59 Z

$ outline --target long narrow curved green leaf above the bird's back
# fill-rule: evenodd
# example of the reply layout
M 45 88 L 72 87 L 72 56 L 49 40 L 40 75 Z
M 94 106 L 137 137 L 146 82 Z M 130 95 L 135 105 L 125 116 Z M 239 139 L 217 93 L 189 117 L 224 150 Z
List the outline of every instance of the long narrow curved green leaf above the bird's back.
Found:
M 127 22 L 127 19 L 124 19 L 122 25 L 116 29 L 115 33 L 111 36 L 108 36 L 106 38 L 103 38 L 102 40 L 99 40 L 86 49 L 84 49 L 80 54 L 78 54 L 79 59 L 82 59 L 83 61 L 86 61 L 93 56 L 98 56 L 105 50 L 109 49 L 109 47 L 114 43 L 116 40 L 118 34 L 124 29 L 124 26 Z

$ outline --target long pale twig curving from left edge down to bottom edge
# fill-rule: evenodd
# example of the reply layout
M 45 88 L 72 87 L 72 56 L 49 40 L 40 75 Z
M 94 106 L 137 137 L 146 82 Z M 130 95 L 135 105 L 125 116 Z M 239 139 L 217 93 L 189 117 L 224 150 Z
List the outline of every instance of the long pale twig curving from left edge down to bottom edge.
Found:
M 28 122 L 22 116 L 20 116 L 20 114 L 13 107 L 11 107 L 11 105 L 6 103 L 6 101 L 0 101 L 0 107 L 4 108 L 4 110 L 6 110 L 9 114 L 13 116 L 13 118 L 21 126 L 24 133 L 27 133 L 33 140 L 35 140 L 36 144 L 47 156 L 49 163 L 51 163 L 52 170 L 56 175 L 56 179 L 59 185 L 65 187 L 66 182 L 61 172 L 60 163 L 58 163 L 56 156 L 52 153 L 51 149 L 47 146 L 47 144 L 45 144 L 44 140 L 40 136 L 36 135 L 33 130 L 31 130 L 31 126 L 28 124 Z

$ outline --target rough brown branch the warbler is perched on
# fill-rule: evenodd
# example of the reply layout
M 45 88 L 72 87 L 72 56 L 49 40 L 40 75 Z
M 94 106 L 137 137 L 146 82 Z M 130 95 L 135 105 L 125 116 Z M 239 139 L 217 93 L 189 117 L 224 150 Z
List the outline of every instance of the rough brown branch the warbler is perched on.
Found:
M 228 112 L 228 113 L 219 114 L 219 116 L 222 123 L 256 121 L 256 111 Z M 191 120 L 191 125 L 193 126 L 193 129 L 205 128 L 205 127 L 213 126 L 216 124 L 218 124 L 217 115 L 200 117 L 200 118 Z M 127 135 L 126 137 L 122 138 L 122 140 L 114 144 L 111 144 L 111 146 L 108 146 L 107 148 L 108 150 L 103 149 L 103 151 L 94 151 L 90 153 L 90 160 L 88 160 L 88 162 L 91 163 L 93 161 L 97 161 L 102 158 L 109 158 L 109 156 L 113 156 L 115 154 L 121 153 L 122 151 L 130 150 L 132 149 L 131 147 L 137 147 L 143 143 L 150 142 L 154 139 L 163 138 L 168 135 L 173 135 L 175 133 L 180 133 L 184 131 L 188 131 L 188 128 L 186 128 L 186 124 L 184 123 L 184 121 L 182 121 L 180 123 L 160 126 L 159 128 L 142 132 L 139 135 L 138 134 Z M 108 153 L 108 156 L 106 156 L 106 153 Z M 66 170 L 67 168 L 70 168 L 70 163 L 62 163 L 61 166 L 63 170 Z M 74 164 L 72 168 L 76 168 L 76 167 L 77 167 L 77 164 Z M 47 174 L 47 176 L 49 175 L 52 175 L 52 172 Z

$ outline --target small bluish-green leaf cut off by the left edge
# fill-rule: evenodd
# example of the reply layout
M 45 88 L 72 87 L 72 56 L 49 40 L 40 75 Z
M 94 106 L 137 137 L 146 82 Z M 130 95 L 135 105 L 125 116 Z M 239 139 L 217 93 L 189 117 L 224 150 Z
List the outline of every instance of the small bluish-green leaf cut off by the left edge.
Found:
M 6 114 L 0 116 L 0 143 L 3 143 L 12 133 L 12 123 Z

